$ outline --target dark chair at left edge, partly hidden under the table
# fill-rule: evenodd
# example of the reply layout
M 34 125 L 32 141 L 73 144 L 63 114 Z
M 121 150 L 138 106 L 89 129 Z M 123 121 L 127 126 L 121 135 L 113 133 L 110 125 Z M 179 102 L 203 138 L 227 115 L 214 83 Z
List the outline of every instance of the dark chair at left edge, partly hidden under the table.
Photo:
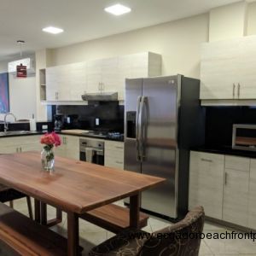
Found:
M 33 219 L 32 214 L 32 203 L 31 198 L 28 195 L 25 195 L 21 193 L 20 191 L 17 191 L 15 189 L 11 189 L 9 187 L 4 186 L 3 184 L 0 184 L 0 201 L 1 202 L 7 202 L 9 201 L 9 206 L 14 207 L 13 201 L 16 199 L 20 199 L 26 197 L 26 204 L 28 209 L 29 218 Z

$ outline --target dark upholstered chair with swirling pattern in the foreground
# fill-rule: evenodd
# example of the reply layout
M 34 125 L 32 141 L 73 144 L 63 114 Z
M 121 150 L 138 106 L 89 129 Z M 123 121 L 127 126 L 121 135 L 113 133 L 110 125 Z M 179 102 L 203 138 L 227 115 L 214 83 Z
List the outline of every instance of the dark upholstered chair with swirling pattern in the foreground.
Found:
M 181 221 L 152 234 L 143 230 L 124 230 L 92 248 L 89 255 L 197 256 L 204 219 L 203 207 L 195 207 Z

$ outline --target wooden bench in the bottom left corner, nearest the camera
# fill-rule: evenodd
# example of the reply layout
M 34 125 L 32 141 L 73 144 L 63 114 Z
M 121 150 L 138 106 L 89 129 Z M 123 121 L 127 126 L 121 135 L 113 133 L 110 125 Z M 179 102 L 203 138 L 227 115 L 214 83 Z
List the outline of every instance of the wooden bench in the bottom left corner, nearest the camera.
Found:
M 0 203 L 0 240 L 26 255 L 67 255 L 67 239 Z

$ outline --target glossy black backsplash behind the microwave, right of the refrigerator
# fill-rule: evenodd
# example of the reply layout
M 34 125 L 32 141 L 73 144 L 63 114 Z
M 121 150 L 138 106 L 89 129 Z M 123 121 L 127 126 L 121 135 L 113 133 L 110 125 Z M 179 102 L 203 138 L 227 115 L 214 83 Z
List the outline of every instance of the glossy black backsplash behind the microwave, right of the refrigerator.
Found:
M 233 124 L 256 124 L 256 108 L 207 107 L 206 146 L 231 146 Z

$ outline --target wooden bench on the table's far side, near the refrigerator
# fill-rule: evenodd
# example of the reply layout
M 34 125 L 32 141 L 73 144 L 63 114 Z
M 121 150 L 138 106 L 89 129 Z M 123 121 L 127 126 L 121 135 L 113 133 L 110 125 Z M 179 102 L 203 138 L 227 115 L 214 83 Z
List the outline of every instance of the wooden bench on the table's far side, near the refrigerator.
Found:
M 130 209 L 109 204 L 79 215 L 79 218 L 96 224 L 115 234 L 130 226 Z M 140 212 L 139 228 L 148 224 L 148 215 Z

